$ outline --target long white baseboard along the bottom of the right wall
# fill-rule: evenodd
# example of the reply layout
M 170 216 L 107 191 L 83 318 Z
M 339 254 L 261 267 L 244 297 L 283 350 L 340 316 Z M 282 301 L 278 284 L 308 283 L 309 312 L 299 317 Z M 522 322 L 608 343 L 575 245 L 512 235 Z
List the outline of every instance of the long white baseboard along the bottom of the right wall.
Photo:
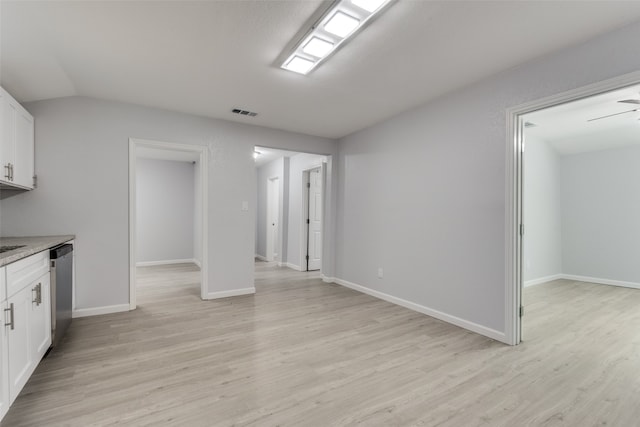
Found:
M 487 328 L 486 326 L 478 325 L 477 323 L 473 323 L 468 320 L 461 319 L 459 317 L 452 316 L 450 314 L 443 313 L 441 311 L 434 310 L 432 308 L 425 307 L 423 305 L 404 300 L 402 298 L 394 297 L 392 295 L 385 294 L 384 292 L 375 291 L 373 289 L 369 289 L 365 286 L 351 283 L 343 279 L 339 279 L 339 278 L 332 278 L 332 279 L 334 279 L 334 282 L 339 285 L 353 289 L 358 292 L 362 292 L 363 294 L 371 295 L 372 297 L 376 297 L 381 300 L 390 302 L 392 304 L 396 304 L 396 305 L 408 308 L 409 310 L 417 311 L 418 313 L 426 314 L 427 316 L 431 316 L 436 319 L 442 320 L 444 322 L 451 323 L 452 325 L 459 326 L 471 332 L 475 332 L 477 334 L 484 335 L 489 338 L 493 338 L 494 340 L 503 342 L 505 344 L 509 344 L 507 340 L 507 336 L 505 335 L 504 332 L 496 331 L 495 329 Z

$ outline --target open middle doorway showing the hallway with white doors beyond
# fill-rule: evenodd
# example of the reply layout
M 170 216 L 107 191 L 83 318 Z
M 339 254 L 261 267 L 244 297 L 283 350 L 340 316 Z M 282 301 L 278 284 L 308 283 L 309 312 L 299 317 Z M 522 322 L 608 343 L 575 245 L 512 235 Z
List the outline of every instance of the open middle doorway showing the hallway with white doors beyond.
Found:
M 257 271 L 285 267 L 320 277 L 330 156 L 255 147 L 255 158 Z

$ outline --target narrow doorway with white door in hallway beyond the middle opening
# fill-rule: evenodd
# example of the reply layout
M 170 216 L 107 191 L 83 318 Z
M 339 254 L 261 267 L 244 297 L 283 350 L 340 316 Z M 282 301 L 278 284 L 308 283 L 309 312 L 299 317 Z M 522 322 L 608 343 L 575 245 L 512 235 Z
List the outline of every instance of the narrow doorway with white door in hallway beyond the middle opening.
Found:
M 302 173 L 305 190 L 303 207 L 302 249 L 305 270 L 315 271 L 322 268 L 322 168 L 306 170 Z

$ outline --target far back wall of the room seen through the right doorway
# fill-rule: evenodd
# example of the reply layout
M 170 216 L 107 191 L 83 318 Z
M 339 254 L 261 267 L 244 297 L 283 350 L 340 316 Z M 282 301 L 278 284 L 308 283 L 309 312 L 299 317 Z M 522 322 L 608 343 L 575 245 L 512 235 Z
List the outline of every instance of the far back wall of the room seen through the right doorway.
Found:
M 563 272 L 640 284 L 640 147 L 561 164 Z

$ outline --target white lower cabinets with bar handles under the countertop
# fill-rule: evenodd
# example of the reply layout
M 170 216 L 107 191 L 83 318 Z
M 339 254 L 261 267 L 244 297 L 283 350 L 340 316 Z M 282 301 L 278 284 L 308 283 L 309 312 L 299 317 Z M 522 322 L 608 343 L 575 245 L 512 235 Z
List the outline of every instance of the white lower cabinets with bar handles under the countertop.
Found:
M 48 268 L 43 271 L 43 261 L 48 265 L 48 253 L 0 269 L 0 306 L 4 313 L 0 336 L 0 419 L 51 345 L 51 285 Z

